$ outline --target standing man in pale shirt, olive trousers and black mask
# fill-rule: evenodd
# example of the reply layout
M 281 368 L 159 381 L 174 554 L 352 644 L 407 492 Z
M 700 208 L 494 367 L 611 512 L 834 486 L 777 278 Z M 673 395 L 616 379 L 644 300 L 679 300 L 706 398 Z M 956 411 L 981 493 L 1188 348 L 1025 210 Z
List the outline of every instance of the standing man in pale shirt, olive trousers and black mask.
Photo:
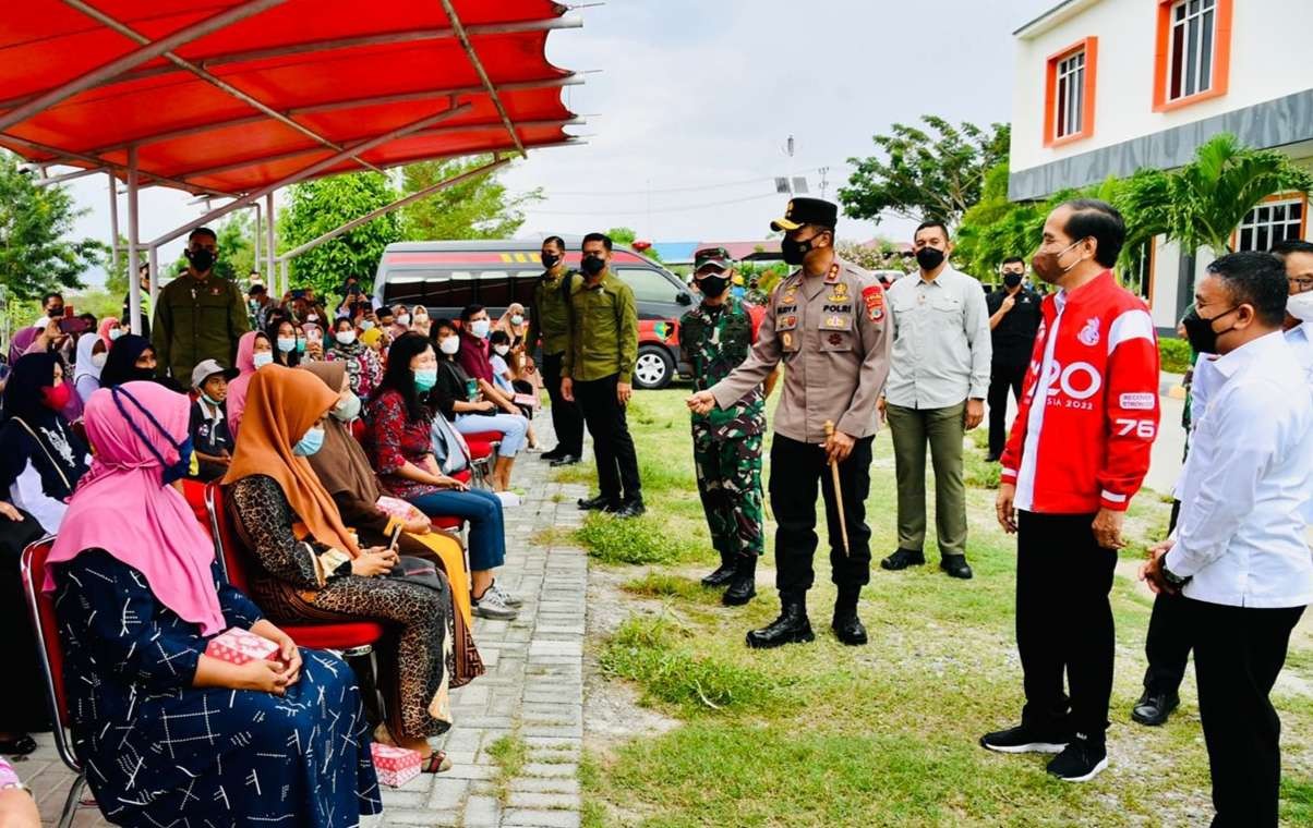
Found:
M 898 549 L 885 569 L 926 563 L 926 444 L 935 466 L 939 566 L 969 579 L 962 434 L 985 417 L 990 328 L 985 293 L 948 264 L 953 244 L 941 222 L 922 222 L 913 236 L 919 278 L 889 289 L 894 348 L 878 407 L 889 420 L 898 479 Z

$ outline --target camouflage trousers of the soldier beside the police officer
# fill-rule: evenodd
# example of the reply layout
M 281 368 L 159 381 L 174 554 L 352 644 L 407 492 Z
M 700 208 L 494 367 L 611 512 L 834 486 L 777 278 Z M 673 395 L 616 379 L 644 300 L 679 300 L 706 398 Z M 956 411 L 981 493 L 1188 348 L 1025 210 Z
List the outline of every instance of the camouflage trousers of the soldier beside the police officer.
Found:
M 723 560 L 760 556 L 765 550 L 762 507 L 763 434 L 717 440 L 710 429 L 693 429 L 697 493 L 706 513 L 712 546 Z

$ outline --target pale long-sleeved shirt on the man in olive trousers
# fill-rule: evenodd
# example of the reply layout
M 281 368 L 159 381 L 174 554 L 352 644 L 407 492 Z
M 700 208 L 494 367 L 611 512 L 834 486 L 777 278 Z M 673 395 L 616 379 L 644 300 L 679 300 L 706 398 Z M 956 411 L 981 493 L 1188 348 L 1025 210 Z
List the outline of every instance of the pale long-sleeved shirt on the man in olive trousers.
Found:
M 903 408 L 948 408 L 989 394 L 993 344 L 981 283 L 945 265 L 889 289 L 894 348 L 885 402 Z

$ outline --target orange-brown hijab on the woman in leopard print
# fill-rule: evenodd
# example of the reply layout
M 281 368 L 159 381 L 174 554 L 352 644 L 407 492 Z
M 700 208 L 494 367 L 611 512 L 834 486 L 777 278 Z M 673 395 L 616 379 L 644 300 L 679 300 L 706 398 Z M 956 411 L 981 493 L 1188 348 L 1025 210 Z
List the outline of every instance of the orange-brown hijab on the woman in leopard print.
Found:
M 356 556 L 360 547 L 343 526 L 337 504 L 324 491 L 309 461 L 291 453 L 291 446 L 336 403 L 337 394 L 307 371 L 281 365 L 256 371 L 242 415 L 242 438 L 223 483 L 252 475 L 273 478 L 306 534 Z M 326 433 L 326 442 L 327 437 Z

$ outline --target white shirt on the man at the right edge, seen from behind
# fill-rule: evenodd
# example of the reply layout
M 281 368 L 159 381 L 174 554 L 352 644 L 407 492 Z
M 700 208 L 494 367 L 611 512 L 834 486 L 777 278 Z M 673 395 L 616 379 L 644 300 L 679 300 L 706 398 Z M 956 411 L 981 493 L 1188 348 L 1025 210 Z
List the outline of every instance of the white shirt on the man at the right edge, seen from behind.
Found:
M 1304 541 L 1313 497 L 1313 391 L 1280 333 L 1212 361 L 1166 566 L 1184 594 L 1229 606 L 1313 602 Z M 1197 412 L 1199 409 L 1196 409 Z

